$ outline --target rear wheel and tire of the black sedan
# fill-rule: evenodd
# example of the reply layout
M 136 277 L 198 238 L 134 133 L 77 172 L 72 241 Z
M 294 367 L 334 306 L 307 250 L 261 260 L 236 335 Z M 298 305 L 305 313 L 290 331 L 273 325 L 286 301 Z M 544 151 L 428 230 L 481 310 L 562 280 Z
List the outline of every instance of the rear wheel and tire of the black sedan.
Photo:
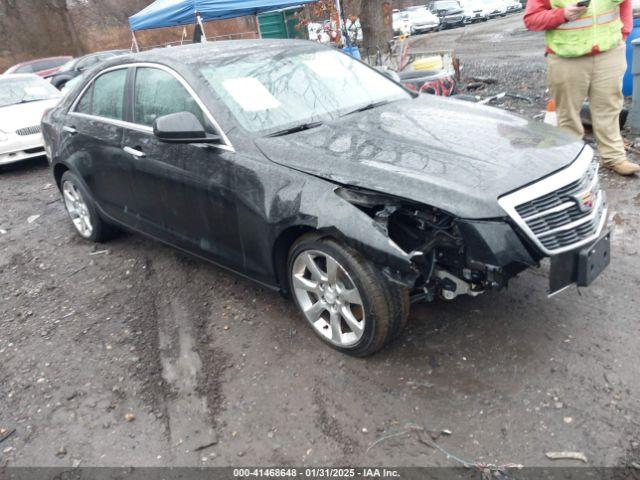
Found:
M 78 235 L 90 242 L 105 242 L 116 233 L 98 213 L 91 195 L 78 177 L 67 171 L 60 181 L 62 200 Z

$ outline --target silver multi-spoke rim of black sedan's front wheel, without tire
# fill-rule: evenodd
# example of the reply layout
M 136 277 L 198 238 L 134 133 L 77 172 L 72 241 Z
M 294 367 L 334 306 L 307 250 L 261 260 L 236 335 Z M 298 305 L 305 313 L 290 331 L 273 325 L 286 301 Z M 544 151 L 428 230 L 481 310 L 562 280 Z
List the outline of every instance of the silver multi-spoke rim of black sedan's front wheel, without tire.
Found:
M 318 250 L 301 252 L 293 262 L 291 285 L 307 321 L 328 342 L 357 344 L 364 333 L 362 296 L 336 259 Z

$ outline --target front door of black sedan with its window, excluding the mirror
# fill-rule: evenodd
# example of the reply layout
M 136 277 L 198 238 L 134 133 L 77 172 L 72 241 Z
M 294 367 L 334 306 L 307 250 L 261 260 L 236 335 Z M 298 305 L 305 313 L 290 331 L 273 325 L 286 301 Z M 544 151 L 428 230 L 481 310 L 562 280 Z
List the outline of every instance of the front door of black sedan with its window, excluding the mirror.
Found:
M 195 92 L 164 67 L 136 68 L 131 123 L 123 148 L 134 164 L 137 213 L 146 231 L 231 268 L 240 259 L 234 153 L 205 144 L 160 142 L 156 118 L 191 112 L 216 131 Z

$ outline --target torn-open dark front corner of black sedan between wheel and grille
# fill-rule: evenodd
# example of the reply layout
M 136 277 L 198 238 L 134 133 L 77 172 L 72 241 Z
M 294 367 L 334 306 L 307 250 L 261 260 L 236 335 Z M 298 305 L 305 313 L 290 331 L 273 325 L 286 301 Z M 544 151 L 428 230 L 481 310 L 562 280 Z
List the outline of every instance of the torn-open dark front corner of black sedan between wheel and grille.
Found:
M 373 219 L 375 235 L 355 248 L 371 258 L 392 282 L 413 292 L 414 300 L 436 296 L 479 295 L 504 288 L 513 276 L 538 265 L 529 248 L 506 219 L 455 219 L 445 212 L 373 192 L 338 189 L 338 196 Z M 375 248 L 372 239 L 386 239 Z

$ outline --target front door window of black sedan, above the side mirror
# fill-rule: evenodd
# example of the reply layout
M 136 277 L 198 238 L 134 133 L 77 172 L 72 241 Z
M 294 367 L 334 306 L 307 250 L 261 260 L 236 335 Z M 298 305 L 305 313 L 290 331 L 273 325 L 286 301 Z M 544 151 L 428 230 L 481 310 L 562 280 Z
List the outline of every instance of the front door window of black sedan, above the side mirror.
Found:
M 202 109 L 173 75 L 157 68 L 136 70 L 134 123 L 152 126 L 163 115 L 191 112 L 211 131 Z

